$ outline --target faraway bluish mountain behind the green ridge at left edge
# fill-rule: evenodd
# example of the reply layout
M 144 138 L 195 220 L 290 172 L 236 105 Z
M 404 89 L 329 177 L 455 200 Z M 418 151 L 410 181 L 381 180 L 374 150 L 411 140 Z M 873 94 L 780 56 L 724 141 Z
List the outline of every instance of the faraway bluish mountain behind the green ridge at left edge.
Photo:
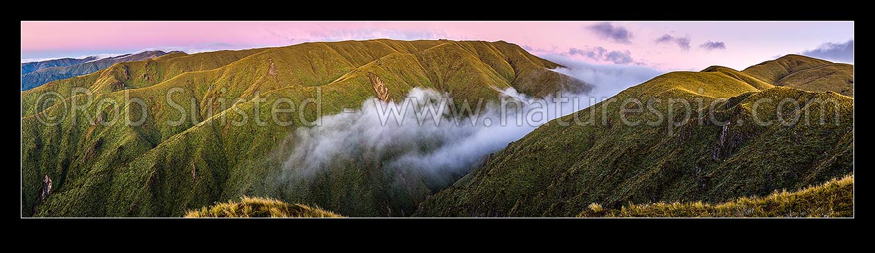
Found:
M 172 52 L 176 53 L 176 52 Z M 36 88 L 45 83 L 67 79 L 82 74 L 91 74 L 119 62 L 138 61 L 165 55 L 164 51 L 146 51 L 136 54 L 124 54 L 116 57 L 95 60 L 95 56 L 85 59 L 59 59 L 39 62 L 22 63 L 21 90 Z M 93 61 L 89 61 L 93 60 Z M 30 72 L 25 73 L 25 65 Z

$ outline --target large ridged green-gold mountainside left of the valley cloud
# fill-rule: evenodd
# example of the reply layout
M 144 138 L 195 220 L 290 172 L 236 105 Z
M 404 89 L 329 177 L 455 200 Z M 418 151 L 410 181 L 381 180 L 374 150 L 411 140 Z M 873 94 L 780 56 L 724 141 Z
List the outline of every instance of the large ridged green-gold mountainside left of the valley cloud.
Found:
M 326 168 L 312 181 L 273 180 L 296 142 L 287 138 L 289 133 L 304 126 L 304 120 L 315 119 L 319 110 L 332 115 L 360 107 L 374 96 L 369 73 L 384 83 L 388 99 L 396 101 L 415 87 L 450 93 L 459 101 L 497 98 L 496 88 L 513 87 L 531 95 L 590 88 L 549 71 L 554 67 L 558 65 L 503 41 L 374 39 L 172 53 L 53 81 L 22 94 L 23 212 L 179 216 L 215 201 L 251 195 L 315 203 L 353 216 L 410 214 L 432 185 L 408 175 L 409 185 L 390 186 L 398 175 L 381 172 L 379 159 L 365 154 Z M 149 109 L 145 122 L 129 126 L 112 121 L 112 108 L 105 103 L 67 115 L 71 102 L 84 104 L 87 98 L 71 95 L 73 88 L 88 88 L 94 101 L 118 102 L 132 121 L 141 117 L 142 106 L 124 101 L 141 98 Z M 59 99 L 38 101 L 48 92 Z M 320 107 L 300 106 L 316 97 Z M 290 125 L 270 120 L 270 107 L 281 98 L 303 111 L 303 116 L 276 116 Z M 67 116 L 57 125 L 40 123 L 55 115 Z M 180 116 L 185 118 L 177 122 Z M 256 117 L 266 124 L 257 124 Z M 232 124 L 240 120 L 246 123 Z M 45 175 L 54 186 L 40 200 Z

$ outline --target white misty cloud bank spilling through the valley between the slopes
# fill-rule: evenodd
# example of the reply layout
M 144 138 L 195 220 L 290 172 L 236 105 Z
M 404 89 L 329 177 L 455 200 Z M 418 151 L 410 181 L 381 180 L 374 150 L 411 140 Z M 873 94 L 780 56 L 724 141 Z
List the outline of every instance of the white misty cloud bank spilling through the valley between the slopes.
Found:
M 592 65 L 559 55 L 546 58 L 567 67 L 554 71 L 595 88 L 589 94 L 563 95 L 568 100 L 532 98 L 513 88 L 496 90 L 515 105 L 487 103 L 461 119 L 453 117 L 458 109 L 447 108 L 451 102 L 441 103 L 445 95 L 432 89 L 413 88 L 402 102 L 371 98 L 352 113 L 323 116 L 321 125 L 290 134 L 295 146 L 283 163 L 283 179 L 311 179 L 329 168 L 364 161 L 365 166 L 378 166 L 382 172 L 423 175 L 427 181 L 447 186 L 487 154 L 500 151 L 541 124 L 660 74 L 648 67 Z M 387 111 L 394 113 L 387 116 Z

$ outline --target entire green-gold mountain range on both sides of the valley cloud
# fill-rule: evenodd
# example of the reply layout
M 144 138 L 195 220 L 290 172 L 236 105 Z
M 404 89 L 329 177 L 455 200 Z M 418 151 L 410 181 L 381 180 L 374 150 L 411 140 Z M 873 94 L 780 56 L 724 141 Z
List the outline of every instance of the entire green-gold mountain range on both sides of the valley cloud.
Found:
M 45 66 L 52 64 L 62 63 Z M 22 213 L 179 217 L 282 207 L 306 210 L 304 215 L 576 216 L 593 203 L 606 209 L 629 202 L 718 203 L 801 190 L 853 172 L 853 66 L 788 55 L 743 71 L 708 67 L 662 74 L 613 97 L 701 101 L 716 105 L 713 114 L 696 104 L 690 118 L 677 124 L 627 126 L 620 116 L 652 116 L 635 105 L 600 102 L 538 127 L 448 181 L 386 169 L 383 162 L 396 154 L 373 149 L 332 160 L 304 180 L 283 180 L 287 154 L 304 141 L 295 132 L 318 115 L 359 108 L 374 96 L 400 101 L 414 88 L 455 101 L 496 100 L 507 88 L 532 97 L 592 89 L 551 71 L 556 67 L 562 66 L 504 41 L 391 39 L 116 62 L 22 92 Z M 75 93 L 77 88 L 87 88 L 92 97 Z M 44 100 L 49 92 L 58 97 Z M 127 103 L 132 97 L 142 105 Z M 311 97 L 320 97 L 321 106 L 304 104 L 298 108 L 303 118 L 279 116 L 290 125 L 226 122 L 269 119 L 271 104 L 280 98 Z M 123 117 L 144 123 L 115 120 L 111 102 L 82 103 L 86 98 L 116 102 Z M 811 116 L 837 117 L 824 124 L 751 123 L 753 110 L 767 120 L 786 117 L 774 109 L 787 98 L 803 108 L 823 108 Z M 761 99 L 771 102 L 753 107 Z M 676 108 L 648 109 L 668 114 Z M 604 124 L 556 122 L 603 115 Z M 185 118 L 177 122 L 180 116 Z M 52 117 L 56 121 L 45 124 Z M 221 204 L 243 196 L 303 205 L 261 199 Z M 326 211 L 312 213 L 307 206 Z

